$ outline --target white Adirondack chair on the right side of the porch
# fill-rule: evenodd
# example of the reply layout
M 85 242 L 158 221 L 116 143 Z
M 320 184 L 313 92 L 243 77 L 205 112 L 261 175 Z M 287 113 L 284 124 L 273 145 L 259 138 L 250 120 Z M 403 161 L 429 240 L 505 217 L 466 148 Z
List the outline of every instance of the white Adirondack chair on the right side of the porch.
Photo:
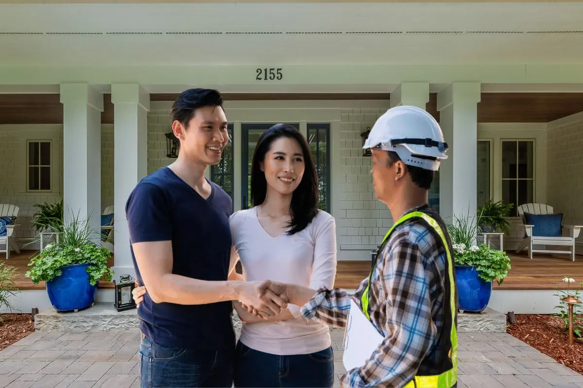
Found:
M 546 237 L 546 236 L 533 236 L 534 225 L 526 225 L 524 213 L 531 214 L 553 214 L 553 207 L 544 204 L 524 204 L 518 207 L 518 215 L 522 219 L 522 226 L 524 232 L 526 233 L 526 239 L 524 239 L 516 250 L 517 253 L 521 252 L 524 248 L 528 247 L 528 257 L 532 259 L 533 252 L 539 253 L 556 253 L 556 254 L 571 254 L 571 258 L 575 261 L 575 239 L 579 237 L 579 232 L 583 226 L 578 225 L 564 225 L 561 227 L 568 230 L 568 236 L 561 237 Z M 564 247 L 569 247 L 570 250 L 541 250 L 533 249 L 533 245 L 560 245 Z M 546 248 L 546 246 L 545 246 Z

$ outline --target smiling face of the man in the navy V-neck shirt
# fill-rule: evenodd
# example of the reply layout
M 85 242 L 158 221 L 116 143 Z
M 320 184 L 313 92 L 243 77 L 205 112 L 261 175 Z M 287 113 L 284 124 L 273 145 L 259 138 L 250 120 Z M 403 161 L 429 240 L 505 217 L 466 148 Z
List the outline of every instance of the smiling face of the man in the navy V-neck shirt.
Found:
M 197 108 L 186 128 L 175 120 L 172 129 L 180 140 L 180 155 L 206 166 L 220 162 L 229 141 L 227 118 L 222 107 Z

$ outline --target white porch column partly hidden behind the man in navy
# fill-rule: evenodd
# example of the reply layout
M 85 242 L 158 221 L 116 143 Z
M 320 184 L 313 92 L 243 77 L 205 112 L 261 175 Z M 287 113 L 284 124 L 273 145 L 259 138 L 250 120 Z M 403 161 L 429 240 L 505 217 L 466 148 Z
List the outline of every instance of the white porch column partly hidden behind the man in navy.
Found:
M 135 279 L 125 202 L 138 181 L 147 175 L 150 95 L 139 84 L 112 84 L 111 102 L 114 104 L 114 278 L 128 273 Z

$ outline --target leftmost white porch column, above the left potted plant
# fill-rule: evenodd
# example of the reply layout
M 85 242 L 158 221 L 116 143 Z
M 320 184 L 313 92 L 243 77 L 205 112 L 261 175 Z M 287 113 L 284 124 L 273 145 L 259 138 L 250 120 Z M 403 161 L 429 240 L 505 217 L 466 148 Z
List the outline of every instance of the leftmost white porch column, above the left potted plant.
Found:
M 99 232 L 103 94 L 86 83 L 61 84 L 61 104 L 64 216 L 88 220 Z

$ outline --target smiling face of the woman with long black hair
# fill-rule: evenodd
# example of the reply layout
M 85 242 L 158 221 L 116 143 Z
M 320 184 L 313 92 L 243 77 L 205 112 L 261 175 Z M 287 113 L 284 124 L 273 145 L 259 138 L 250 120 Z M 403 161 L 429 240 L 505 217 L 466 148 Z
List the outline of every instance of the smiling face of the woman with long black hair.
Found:
M 289 195 L 296 190 L 304 176 L 304 154 L 300 144 L 290 137 L 273 140 L 261 163 L 267 190 Z

